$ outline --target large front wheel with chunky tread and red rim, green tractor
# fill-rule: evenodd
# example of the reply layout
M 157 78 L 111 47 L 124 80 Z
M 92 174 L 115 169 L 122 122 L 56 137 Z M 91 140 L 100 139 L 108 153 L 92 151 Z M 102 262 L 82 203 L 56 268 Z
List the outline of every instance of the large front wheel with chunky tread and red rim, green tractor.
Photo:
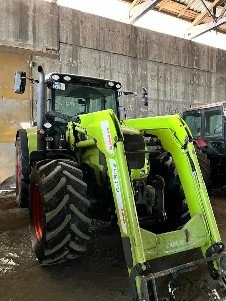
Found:
M 37 162 L 30 177 L 32 247 L 41 265 L 74 259 L 89 240 L 89 200 L 83 173 L 71 160 Z

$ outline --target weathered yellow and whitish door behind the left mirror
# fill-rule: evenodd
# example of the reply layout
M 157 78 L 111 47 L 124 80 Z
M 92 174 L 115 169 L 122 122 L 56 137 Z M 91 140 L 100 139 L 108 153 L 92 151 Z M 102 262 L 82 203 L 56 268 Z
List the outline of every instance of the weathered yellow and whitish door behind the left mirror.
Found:
M 0 49 L 1 50 L 1 49 Z M 29 55 L 0 51 L 0 184 L 15 174 L 15 136 L 19 122 L 29 122 L 30 82 L 24 94 L 14 94 L 16 70 L 29 76 Z

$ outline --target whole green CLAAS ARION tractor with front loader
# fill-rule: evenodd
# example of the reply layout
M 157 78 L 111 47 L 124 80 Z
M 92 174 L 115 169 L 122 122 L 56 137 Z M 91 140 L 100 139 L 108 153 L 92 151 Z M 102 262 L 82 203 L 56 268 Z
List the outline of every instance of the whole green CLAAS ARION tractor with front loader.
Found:
M 134 301 L 168 300 L 158 298 L 155 279 L 169 274 L 174 300 L 175 277 L 202 263 L 226 291 L 224 244 L 184 120 L 120 121 L 119 97 L 137 92 L 120 92 L 113 80 L 38 71 L 39 80 L 30 79 L 38 86 L 37 127 L 16 136 L 16 200 L 29 206 L 39 263 L 81 256 L 91 219 L 99 219 L 120 228 Z M 24 93 L 26 78 L 16 72 L 15 93 Z M 148 105 L 146 89 L 140 93 Z M 203 259 L 152 273 L 149 260 L 194 248 Z

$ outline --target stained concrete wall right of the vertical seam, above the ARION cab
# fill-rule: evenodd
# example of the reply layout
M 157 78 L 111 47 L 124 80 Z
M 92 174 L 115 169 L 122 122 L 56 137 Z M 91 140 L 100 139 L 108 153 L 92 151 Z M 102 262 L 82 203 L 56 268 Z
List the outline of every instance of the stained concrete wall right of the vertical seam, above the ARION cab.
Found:
M 182 113 L 224 99 L 226 51 L 59 7 L 62 72 L 115 79 L 123 89 L 149 92 L 123 98 L 131 118 Z

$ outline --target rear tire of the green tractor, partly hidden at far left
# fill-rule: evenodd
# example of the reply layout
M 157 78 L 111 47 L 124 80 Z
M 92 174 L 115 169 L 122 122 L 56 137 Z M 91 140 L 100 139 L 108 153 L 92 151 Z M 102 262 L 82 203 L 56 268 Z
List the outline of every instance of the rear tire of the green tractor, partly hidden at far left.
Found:
M 20 137 L 17 137 L 16 141 L 16 156 L 15 156 L 15 171 L 16 171 L 16 201 L 19 207 L 28 207 L 28 196 L 29 196 L 29 170 L 27 171 L 22 166 L 22 153 Z

